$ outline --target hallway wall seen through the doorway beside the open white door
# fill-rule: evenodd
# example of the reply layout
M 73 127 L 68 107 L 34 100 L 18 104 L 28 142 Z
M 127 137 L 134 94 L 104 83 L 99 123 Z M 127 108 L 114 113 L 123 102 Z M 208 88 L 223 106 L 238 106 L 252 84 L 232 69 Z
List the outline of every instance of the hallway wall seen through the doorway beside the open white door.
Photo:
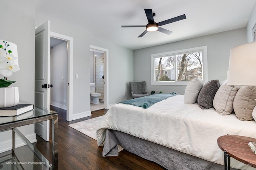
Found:
M 67 109 L 68 49 L 67 42 L 51 49 L 50 105 Z

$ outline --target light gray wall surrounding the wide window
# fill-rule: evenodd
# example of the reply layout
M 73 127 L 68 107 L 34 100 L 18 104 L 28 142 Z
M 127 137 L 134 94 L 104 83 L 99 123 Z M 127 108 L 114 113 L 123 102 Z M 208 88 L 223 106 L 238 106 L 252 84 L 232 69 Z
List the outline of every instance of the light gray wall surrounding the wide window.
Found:
M 226 79 L 230 49 L 246 43 L 246 28 L 234 29 L 184 41 L 158 45 L 134 51 L 134 81 L 146 81 L 146 90 L 156 93 L 184 94 L 186 86 L 151 85 L 150 55 L 180 49 L 207 46 L 208 80 Z

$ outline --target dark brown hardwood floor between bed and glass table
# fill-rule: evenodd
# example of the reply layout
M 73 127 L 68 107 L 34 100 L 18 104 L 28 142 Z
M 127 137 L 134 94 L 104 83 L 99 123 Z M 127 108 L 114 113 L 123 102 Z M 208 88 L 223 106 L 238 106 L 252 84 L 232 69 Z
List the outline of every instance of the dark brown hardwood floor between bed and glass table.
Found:
M 98 147 L 97 141 L 68 126 L 72 123 L 104 115 L 106 109 L 92 111 L 92 116 L 74 121 L 66 121 L 66 110 L 52 106 L 51 109 L 58 112 L 59 170 L 164 170 L 162 166 L 126 150 L 122 150 L 119 156 L 102 157 L 103 147 Z M 37 142 L 33 145 L 48 160 L 52 161 L 51 136 L 49 142 L 38 136 L 36 139 Z

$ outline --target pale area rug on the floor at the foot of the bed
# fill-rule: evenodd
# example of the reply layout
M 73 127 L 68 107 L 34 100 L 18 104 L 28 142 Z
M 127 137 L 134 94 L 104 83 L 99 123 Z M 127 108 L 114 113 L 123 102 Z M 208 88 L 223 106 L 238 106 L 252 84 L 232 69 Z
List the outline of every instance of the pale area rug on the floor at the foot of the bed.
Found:
M 87 135 L 88 137 L 91 137 L 92 139 L 97 141 L 98 139 L 96 135 L 96 130 L 98 129 L 102 119 L 104 119 L 104 115 L 73 123 L 68 126 L 72 127 L 73 129 L 76 129 L 77 131 L 80 131 L 81 133 L 84 133 L 84 135 Z M 118 145 L 118 152 L 120 152 L 121 150 L 123 150 L 123 148 Z

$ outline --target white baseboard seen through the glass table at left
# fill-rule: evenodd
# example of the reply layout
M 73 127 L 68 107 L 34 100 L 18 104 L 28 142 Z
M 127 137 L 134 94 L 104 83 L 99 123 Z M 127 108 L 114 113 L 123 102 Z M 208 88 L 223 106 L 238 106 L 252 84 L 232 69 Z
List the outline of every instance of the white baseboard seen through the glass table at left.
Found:
M 15 136 L 16 136 L 16 140 L 15 140 L 16 148 L 26 145 L 22 141 L 22 139 L 20 139 L 18 137 L 18 135 L 15 135 Z M 30 143 L 36 142 L 36 133 L 26 135 L 25 137 L 30 141 Z M 0 143 L 0 153 L 6 152 L 6 151 L 11 150 L 11 149 L 12 149 L 12 140 L 8 140 L 8 141 L 4 141 L 4 142 Z

